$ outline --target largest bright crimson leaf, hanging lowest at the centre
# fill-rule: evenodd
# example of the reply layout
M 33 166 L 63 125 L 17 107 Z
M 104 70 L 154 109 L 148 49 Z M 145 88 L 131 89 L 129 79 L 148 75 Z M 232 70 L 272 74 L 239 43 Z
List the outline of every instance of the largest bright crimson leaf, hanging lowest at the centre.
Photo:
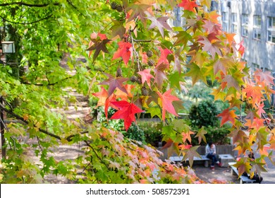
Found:
M 133 103 L 128 103 L 124 100 L 111 102 L 111 104 L 118 107 L 118 111 L 114 113 L 111 119 L 123 119 L 126 131 L 129 129 L 132 122 L 135 121 L 135 114 L 138 112 L 144 112 Z

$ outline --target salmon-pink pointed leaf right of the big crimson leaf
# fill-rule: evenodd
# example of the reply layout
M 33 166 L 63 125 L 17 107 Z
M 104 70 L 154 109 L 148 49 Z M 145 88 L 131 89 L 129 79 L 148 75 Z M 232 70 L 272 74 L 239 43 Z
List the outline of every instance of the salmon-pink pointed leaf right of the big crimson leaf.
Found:
M 157 92 L 157 95 L 159 95 L 159 98 L 161 100 L 161 107 L 162 107 L 162 120 L 165 120 L 165 114 L 166 111 L 170 112 L 173 115 L 178 116 L 176 113 L 172 102 L 180 100 L 176 96 L 171 95 L 171 89 L 169 91 L 166 91 L 164 94 L 161 94 L 160 92 Z

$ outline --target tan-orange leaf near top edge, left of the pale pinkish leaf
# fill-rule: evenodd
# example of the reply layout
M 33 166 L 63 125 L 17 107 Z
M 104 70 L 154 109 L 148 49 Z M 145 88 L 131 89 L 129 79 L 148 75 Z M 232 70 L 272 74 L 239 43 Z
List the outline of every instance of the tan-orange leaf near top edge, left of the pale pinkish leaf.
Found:
M 139 17 L 142 23 L 145 23 L 146 11 L 152 5 L 147 4 L 132 4 L 126 8 L 127 11 L 132 10 L 133 12 L 130 14 L 128 21 L 132 21 L 136 17 Z

